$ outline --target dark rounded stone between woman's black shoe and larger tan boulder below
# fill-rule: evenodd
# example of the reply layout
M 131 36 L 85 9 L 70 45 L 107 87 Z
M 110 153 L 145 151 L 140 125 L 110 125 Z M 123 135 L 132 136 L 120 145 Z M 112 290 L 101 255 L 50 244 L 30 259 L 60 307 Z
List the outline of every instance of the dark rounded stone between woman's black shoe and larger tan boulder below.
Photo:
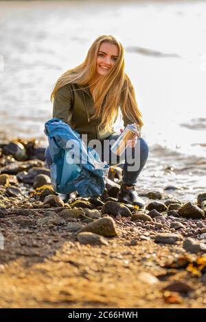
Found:
M 102 214 L 111 214 L 114 217 L 118 214 L 124 217 L 132 216 L 132 212 L 126 206 L 115 201 L 106 201 L 102 207 Z

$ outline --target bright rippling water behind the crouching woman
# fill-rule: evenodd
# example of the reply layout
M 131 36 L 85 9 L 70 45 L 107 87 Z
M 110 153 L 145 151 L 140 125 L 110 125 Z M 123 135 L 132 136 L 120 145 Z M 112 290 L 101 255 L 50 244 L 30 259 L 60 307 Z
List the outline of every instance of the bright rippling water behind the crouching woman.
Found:
M 124 45 L 144 116 L 139 189 L 194 200 L 206 186 L 205 1 L 1 1 L 0 132 L 46 144 L 54 83 L 101 34 Z

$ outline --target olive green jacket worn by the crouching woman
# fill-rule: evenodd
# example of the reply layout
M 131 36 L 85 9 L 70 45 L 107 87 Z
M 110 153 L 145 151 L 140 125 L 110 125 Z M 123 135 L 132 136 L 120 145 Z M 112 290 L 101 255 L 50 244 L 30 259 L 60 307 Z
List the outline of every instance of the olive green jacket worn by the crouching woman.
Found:
M 91 120 L 94 112 L 94 101 L 88 85 L 67 84 L 56 92 L 53 117 L 57 117 L 69 124 L 76 132 L 87 134 L 88 141 L 93 139 L 104 140 L 113 134 L 115 130 L 113 128 L 110 132 L 105 129 L 98 131 L 101 119 Z M 122 117 L 124 126 L 134 123 L 124 113 L 122 113 Z

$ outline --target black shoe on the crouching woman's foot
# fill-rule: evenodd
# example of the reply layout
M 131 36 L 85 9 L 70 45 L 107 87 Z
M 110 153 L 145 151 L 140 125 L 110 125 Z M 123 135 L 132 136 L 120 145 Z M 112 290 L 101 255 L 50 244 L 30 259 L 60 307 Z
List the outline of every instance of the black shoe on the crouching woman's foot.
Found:
M 125 185 L 122 185 L 120 191 L 117 195 L 119 202 L 130 203 L 133 206 L 139 206 L 139 208 L 144 208 L 144 200 L 142 200 L 135 190 L 135 186 L 130 186 L 126 188 Z

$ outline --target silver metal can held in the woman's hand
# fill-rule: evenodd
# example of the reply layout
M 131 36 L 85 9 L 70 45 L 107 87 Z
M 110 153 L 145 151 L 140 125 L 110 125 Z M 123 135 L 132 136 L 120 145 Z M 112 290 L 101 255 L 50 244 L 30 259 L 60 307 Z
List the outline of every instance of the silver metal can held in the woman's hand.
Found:
M 134 124 L 128 124 L 124 128 L 124 131 L 120 134 L 119 138 L 117 138 L 116 142 L 111 147 L 111 151 L 117 156 L 121 156 L 126 147 L 128 146 L 127 140 L 132 140 L 134 134 L 138 134 L 140 137 L 140 127 Z

